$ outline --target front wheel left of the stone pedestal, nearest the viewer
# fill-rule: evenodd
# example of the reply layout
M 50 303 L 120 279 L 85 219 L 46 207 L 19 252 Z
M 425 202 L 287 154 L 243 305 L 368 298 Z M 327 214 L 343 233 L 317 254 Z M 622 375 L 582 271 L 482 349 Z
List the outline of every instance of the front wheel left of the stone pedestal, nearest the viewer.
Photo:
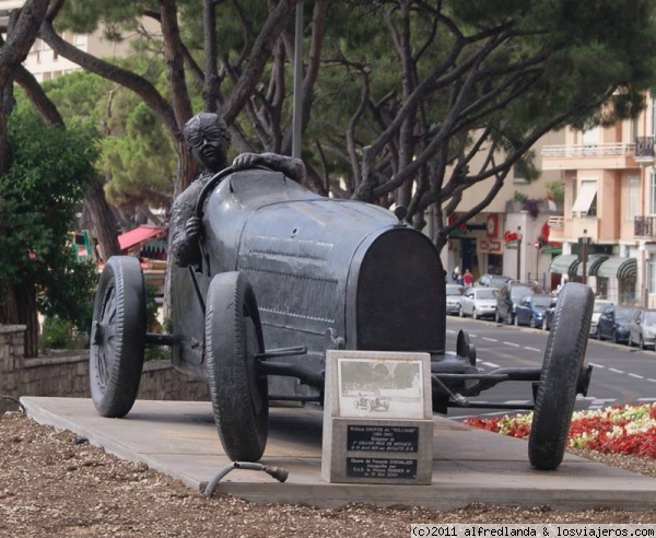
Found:
M 269 436 L 268 387 L 256 361 L 263 351 L 257 303 L 239 272 L 216 274 L 210 283 L 206 346 L 212 409 L 225 454 L 257 461 Z

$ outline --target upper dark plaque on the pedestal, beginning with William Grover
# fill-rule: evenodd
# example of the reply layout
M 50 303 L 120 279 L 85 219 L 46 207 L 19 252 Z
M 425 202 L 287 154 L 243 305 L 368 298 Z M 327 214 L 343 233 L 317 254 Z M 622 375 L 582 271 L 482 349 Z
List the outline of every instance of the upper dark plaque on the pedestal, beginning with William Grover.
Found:
M 347 451 L 415 453 L 419 428 L 393 425 L 349 425 Z

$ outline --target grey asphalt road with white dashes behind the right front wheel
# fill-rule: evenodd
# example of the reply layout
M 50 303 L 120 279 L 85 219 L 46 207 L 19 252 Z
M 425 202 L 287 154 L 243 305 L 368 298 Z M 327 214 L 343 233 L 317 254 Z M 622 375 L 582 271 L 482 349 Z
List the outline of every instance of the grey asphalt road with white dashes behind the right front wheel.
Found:
M 548 332 L 471 318 L 447 317 L 446 348 L 455 351 L 460 329 L 469 334 L 477 349 L 478 365 L 485 371 L 505 366 L 540 366 Z M 656 401 L 656 352 L 588 340 L 585 363 L 591 364 L 593 377 L 587 396 L 577 396 L 576 410 L 600 409 L 629 402 Z M 530 383 L 507 382 L 485 390 L 472 401 L 491 404 L 532 402 Z M 514 413 L 507 409 L 454 409 L 448 417 Z

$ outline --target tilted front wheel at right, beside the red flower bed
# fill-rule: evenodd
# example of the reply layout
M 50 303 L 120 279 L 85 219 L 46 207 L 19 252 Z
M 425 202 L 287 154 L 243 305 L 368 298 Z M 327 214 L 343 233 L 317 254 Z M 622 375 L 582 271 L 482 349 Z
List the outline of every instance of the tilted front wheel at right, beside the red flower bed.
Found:
M 575 282 L 558 296 L 528 440 L 528 457 L 538 469 L 557 469 L 563 460 L 594 301 L 593 291 Z

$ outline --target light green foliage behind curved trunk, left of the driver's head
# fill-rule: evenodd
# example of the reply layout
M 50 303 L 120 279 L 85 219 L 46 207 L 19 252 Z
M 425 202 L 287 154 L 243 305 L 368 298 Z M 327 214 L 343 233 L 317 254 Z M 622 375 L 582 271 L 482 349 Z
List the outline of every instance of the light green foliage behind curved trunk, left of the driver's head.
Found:
M 164 67 L 143 54 L 117 61 L 164 85 Z M 99 138 L 97 169 L 107 177 L 107 200 L 128 211 L 140 204 L 168 206 L 176 174 L 172 140 L 150 108 L 132 92 L 85 71 L 44 83 L 67 124 L 94 126 Z

